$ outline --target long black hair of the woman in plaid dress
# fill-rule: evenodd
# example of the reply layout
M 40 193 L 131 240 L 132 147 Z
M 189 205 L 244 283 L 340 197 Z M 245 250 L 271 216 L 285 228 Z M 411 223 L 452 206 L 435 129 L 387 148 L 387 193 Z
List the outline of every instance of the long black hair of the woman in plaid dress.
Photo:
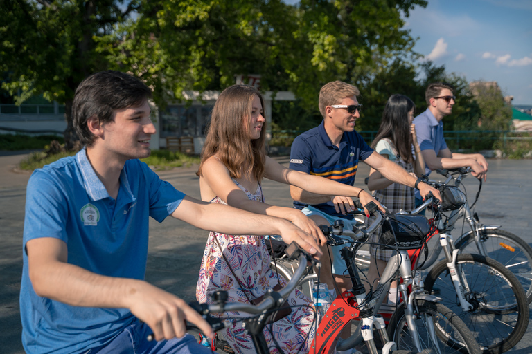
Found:
M 377 136 L 371 142 L 371 147 L 375 148 L 375 145 L 382 138 L 389 138 L 405 162 L 414 162 L 414 157 L 412 156 L 413 141 L 408 122 L 408 112 L 412 109 L 415 111 L 416 104 L 407 96 L 391 95 L 384 107 L 380 127 Z

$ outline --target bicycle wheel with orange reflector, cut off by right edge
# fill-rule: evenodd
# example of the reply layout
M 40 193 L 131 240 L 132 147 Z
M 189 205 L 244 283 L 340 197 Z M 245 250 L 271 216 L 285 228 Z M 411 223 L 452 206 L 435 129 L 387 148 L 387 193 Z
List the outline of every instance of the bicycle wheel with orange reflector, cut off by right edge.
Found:
M 519 236 L 504 230 L 481 230 L 481 243 L 486 256 L 511 270 L 532 302 L 532 248 Z M 481 253 L 475 243 L 475 235 L 468 234 L 456 241 L 462 253 Z

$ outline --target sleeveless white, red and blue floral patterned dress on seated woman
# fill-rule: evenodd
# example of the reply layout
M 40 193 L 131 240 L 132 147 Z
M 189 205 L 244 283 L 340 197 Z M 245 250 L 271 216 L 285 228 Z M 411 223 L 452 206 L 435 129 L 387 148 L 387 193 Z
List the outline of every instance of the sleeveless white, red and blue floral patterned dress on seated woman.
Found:
M 248 196 L 254 201 L 263 202 L 263 193 L 260 183 L 255 194 L 233 180 Z M 211 203 L 225 204 L 220 198 L 215 197 Z M 218 247 L 214 238 L 218 239 L 222 250 Z M 266 293 L 268 288 L 276 286 L 278 281 L 281 286 L 285 286 L 282 277 L 277 279 L 276 273 L 269 268 L 270 257 L 263 236 L 255 235 L 227 235 L 218 232 L 211 232 L 209 240 L 205 246 L 202 260 L 202 268 L 199 270 L 197 281 L 196 298 L 200 303 L 211 303 L 211 295 L 215 290 L 225 290 L 228 292 L 229 302 L 249 303 L 246 295 L 234 279 L 233 273 L 229 270 L 227 263 L 222 257 L 231 263 L 233 272 L 239 278 L 242 286 L 245 287 L 247 296 L 256 299 Z M 310 343 L 314 339 L 314 319 L 313 304 L 302 292 L 295 290 L 287 299 L 287 304 L 292 307 L 292 313 L 287 317 L 268 324 L 263 333 L 269 347 L 270 353 L 279 353 L 274 344 L 274 340 L 282 349 L 282 353 L 308 353 Z M 225 339 L 231 345 L 235 353 L 256 353 L 251 336 L 245 334 L 242 328 L 242 317 L 249 317 L 248 313 L 226 312 L 220 317 L 227 319 L 230 325 L 225 329 Z

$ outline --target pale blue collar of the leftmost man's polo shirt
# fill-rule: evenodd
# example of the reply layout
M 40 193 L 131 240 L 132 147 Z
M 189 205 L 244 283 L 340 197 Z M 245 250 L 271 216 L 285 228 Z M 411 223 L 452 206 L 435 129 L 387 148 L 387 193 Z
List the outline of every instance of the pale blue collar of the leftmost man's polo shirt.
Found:
M 87 158 L 87 149 L 84 147 L 80 152 L 76 154 L 76 162 L 80 168 L 83 176 L 83 183 L 85 190 L 92 201 L 100 201 L 101 199 L 110 198 L 107 189 L 103 185 L 102 181 L 96 175 L 94 168 L 92 168 L 91 162 Z M 127 174 L 125 169 L 120 172 L 120 186 L 121 189 L 125 189 L 124 192 L 131 198 L 131 201 L 135 200 L 133 193 L 131 192 L 129 180 L 127 180 Z M 119 192 L 120 193 L 120 192 Z

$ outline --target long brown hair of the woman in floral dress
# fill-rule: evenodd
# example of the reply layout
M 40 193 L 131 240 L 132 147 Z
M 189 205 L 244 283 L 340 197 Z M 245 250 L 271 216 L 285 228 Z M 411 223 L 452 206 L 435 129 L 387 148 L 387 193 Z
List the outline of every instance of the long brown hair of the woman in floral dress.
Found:
M 204 162 L 217 155 L 229 169 L 231 178 L 254 177 L 259 182 L 263 179 L 266 122 L 260 138 L 249 138 L 249 120 L 255 96 L 260 99 L 264 110 L 263 96 L 253 86 L 233 85 L 220 93 L 211 113 L 197 176 L 203 176 Z

